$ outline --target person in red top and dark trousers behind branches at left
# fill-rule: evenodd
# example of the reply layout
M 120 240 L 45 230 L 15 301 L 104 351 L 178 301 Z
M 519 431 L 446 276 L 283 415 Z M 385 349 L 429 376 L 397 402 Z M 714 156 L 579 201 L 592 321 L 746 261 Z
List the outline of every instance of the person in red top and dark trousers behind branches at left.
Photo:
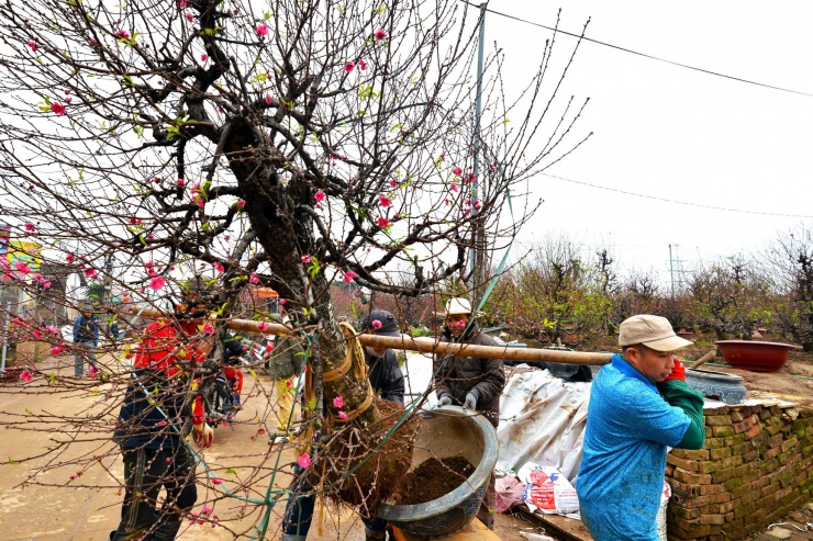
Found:
M 189 418 L 200 448 L 214 441 L 200 396 L 191 405 L 186 399 L 194 368 L 212 348 L 212 338 L 201 339 L 198 326 L 172 318 L 154 320 L 135 350 L 133 377 L 113 433 L 122 451 L 125 494 L 111 541 L 171 541 L 183 514 L 198 499 L 196 464 L 183 441 Z M 162 488 L 166 496 L 159 507 Z

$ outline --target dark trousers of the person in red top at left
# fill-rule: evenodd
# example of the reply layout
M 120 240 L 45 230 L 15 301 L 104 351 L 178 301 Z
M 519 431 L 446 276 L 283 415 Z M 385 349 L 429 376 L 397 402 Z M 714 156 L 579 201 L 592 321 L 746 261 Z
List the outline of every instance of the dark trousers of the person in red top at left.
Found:
M 112 541 L 172 541 L 181 512 L 198 499 L 194 459 L 186 447 L 178 449 L 124 449 L 124 504 Z M 167 492 L 157 508 L 158 493 Z

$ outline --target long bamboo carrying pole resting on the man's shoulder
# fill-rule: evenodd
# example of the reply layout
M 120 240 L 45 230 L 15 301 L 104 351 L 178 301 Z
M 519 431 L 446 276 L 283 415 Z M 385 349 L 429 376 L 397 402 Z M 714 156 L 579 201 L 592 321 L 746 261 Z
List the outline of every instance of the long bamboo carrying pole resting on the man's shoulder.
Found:
M 157 319 L 167 317 L 166 314 L 157 308 L 134 308 L 127 307 L 122 311 L 124 314 L 137 315 Z M 243 333 L 258 333 L 261 335 L 287 335 L 294 329 L 279 323 L 252 322 L 249 319 L 231 319 L 227 327 L 232 330 Z M 402 349 L 408 351 L 421 351 L 424 353 L 454 353 L 466 357 L 482 357 L 487 359 L 503 359 L 505 361 L 522 362 L 566 362 L 570 364 L 601 365 L 609 364 L 612 360 L 612 353 L 592 353 L 582 351 L 561 351 L 555 349 L 535 349 L 535 348 L 510 348 L 506 346 L 474 346 L 470 343 L 442 342 L 434 338 L 413 338 L 402 335 L 379 336 L 379 335 L 358 335 L 358 341 L 364 346 L 376 348 Z

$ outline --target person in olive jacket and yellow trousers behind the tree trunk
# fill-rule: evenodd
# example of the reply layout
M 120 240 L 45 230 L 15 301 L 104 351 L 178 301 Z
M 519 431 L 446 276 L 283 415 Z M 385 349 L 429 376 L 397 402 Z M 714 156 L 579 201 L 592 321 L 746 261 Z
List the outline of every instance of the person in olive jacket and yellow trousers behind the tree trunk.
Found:
M 290 319 L 281 313 L 279 320 L 288 325 Z M 270 375 L 277 394 L 277 435 L 275 443 L 290 439 L 293 418 L 293 401 L 297 395 L 297 377 L 304 365 L 304 350 L 298 338 L 279 335 L 270 352 Z

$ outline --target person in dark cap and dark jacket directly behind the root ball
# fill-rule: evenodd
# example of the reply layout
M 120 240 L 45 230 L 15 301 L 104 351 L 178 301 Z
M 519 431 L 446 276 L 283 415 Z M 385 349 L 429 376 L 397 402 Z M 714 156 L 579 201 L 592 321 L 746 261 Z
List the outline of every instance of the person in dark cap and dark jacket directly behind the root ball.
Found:
M 398 320 L 387 311 L 374 309 L 361 322 L 361 333 L 401 337 L 398 333 Z M 388 348 L 365 346 L 365 362 L 369 369 L 368 379 L 376 396 L 403 405 L 404 380 L 398 365 L 396 353 Z M 294 473 L 301 469 L 294 466 Z M 313 506 L 316 501 L 313 487 L 308 478 L 300 476 L 292 485 L 291 497 L 282 516 L 282 541 L 304 541 L 311 528 Z M 302 496 L 296 496 L 303 494 Z M 387 522 L 379 518 L 361 518 L 365 525 L 365 541 L 385 541 Z M 390 541 L 394 538 L 389 536 Z

